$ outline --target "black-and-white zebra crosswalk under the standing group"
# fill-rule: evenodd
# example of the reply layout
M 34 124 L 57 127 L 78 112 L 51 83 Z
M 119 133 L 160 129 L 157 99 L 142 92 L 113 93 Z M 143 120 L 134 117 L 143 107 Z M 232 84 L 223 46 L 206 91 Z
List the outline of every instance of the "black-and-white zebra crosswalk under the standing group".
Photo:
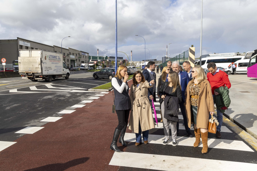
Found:
M 160 103 L 154 102 L 157 109 Z M 189 138 L 179 113 L 179 133 L 177 146 L 172 143 L 163 145 L 163 123 L 160 122 L 160 111 L 156 110 L 158 126 L 149 130 L 148 144 L 135 146 L 135 134 L 125 133 L 124 140 L 128 146 L 123 152 L 115 152 L 109 165 L 120 166 L 121 170 L 253 170 L 257 168 L 257 152 L 246 144 L 236 133 L 225 124 L 221 127 L 221 138 L 215 134 L 208 135 L 208 153 L 202 154 L 202 142 L 194 148 L 195 137 Z M 154 113 L 153 113 L 154 118 Z M 155 119 L 154 119 L 155 120 Z M 191 133 L 194 129 L 191 125 Z M 170 136 L 171 138 L 171 136 Z M 143 139 L 142 139 L 143 141 Z M 172 142 L 172 141 L 171 141 Z

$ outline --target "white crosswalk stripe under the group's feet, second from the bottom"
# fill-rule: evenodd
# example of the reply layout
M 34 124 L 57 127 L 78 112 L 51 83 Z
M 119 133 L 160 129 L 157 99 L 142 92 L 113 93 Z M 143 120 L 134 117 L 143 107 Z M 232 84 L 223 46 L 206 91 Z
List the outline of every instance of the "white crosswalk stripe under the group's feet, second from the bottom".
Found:
M 136 142 L 136 136 L 134 133 L 126 133 L 124 136 L 124 140 L 128 142 Z M 148 135 L 148 143 L 162 144 L 164 140 L 165 140 L 164 135 L 152 135 L 152 134 Z M 194 142 L 195 142 L 195 138 L 177 136 L 178 145 L 193 146 Z M 170 142 L 168 143 L 168 145 L 172 145 L 172 143 Z M 202 142 L 199 144 L 199 147 L 202 147 Z M 236 140 L 208 139 L 208 147 L 254 152 L 243 141 L 236 141 Z

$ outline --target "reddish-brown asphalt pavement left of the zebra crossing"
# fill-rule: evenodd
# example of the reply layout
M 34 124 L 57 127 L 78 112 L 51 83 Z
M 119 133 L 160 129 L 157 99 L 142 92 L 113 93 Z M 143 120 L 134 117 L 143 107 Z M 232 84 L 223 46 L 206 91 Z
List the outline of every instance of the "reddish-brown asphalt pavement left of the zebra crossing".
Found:
M 118 170 L 118 166 L 109 165 L 118 125 L 116 112 L 111 112 L 112 96 L 109 92 L 15 140 L 17 143 L 0 152 L 0 171 Z

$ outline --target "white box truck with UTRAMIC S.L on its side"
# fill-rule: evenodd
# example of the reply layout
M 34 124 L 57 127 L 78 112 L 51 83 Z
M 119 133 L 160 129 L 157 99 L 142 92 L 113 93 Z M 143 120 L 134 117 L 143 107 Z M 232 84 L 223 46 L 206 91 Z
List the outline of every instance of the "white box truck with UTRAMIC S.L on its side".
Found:
M 51 82 L 55 78 L 69 79 L 70 72 L 63 55 L 46 50 L 19 50 L 19 74 L 31 81 Z

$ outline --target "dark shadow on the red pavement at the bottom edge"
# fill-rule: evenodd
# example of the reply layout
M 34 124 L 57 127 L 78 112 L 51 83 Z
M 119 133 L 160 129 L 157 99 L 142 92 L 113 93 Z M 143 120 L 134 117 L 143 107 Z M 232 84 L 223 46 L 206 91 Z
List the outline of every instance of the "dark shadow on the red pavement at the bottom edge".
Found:
M 24 171 L 63 171 L 70 167 L 85 163 L 89 157 L 83 157 L 83 158 L 77 158 L 71 161 L 68 161 L 66 163 L 55 163 L 55 164 L 48 164 L 45 166 L 40 166 L 33 169 L 28 169 Z

